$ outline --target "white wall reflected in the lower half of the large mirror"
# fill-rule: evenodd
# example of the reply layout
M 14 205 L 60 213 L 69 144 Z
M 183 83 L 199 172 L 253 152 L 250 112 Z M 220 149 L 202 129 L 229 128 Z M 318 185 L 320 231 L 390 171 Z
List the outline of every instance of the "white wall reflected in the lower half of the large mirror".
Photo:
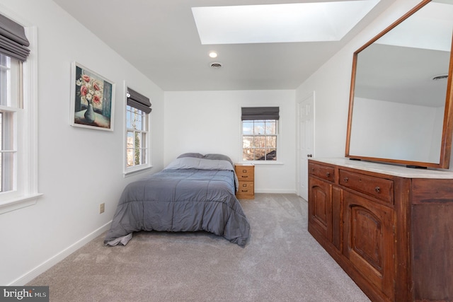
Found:
M 444 108 L 355 97 L 351 126 L 355 131 L 351 133 L 349 153 L 437 163 L 442 139 L 440 112 Z

